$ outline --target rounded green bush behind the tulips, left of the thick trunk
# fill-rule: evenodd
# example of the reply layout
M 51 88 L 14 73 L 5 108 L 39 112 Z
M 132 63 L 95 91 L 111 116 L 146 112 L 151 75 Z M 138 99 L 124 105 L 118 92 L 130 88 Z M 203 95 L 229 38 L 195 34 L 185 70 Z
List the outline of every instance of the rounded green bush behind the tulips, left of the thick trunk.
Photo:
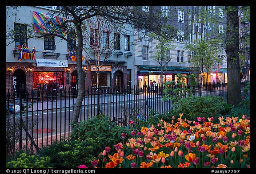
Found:
M 176 108 L 172 110 L 174 116 L 183 113 L 188 120 L 196 120 L 197 117 L 212 117 L 227 113 L 232 108 L 231 105 L 221 97 L 202 96 L 202 97 L 186 97 L 180 99 Z

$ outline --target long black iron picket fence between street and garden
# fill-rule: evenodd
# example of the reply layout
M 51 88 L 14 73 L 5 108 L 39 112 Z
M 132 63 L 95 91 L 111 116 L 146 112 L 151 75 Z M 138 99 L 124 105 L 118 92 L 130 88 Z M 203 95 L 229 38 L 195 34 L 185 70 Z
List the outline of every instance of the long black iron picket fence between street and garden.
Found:
M 173 85 L 173 88 L 176 88 Z M 190 86 L 185 86 L 191 88 Z M 241 92 L 243 91 L 241 86 Z M 19 90 L 17 91 L 19 93 Z M 208 83 L 192 88 L 194 96 L 223 96 L 227 99 L 227 84 Z M 20 95 L 22 96 L 22 95 Z M 48 93 L 33 90 L 25 97 L 16 93 L 6 95 L 6 153 L 16 149 L 39 151 L 71 133 L 73 104 L 76 94 L 68 90 Z M 171 101 L 163 101 L 163 88 L 151 90 L 147 86 L 128 89 L 87 89 L 82 101 L 78 121 L 87 120 L 95 115 L 104 114 L 116 124 L 127 125 L 132 118 L 147 119 L 149 113 L 164 113 L 172 108 Z

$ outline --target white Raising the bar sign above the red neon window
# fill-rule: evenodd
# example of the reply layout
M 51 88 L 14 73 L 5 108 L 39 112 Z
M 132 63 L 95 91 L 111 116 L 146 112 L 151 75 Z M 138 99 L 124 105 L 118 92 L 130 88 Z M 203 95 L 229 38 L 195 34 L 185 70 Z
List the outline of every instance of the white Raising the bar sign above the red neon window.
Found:
M 36 66 L 47 66 L 47 67 L 67 67 L 68 60 L 50 60 L 50 59 L 40 59 L 36 58 Z

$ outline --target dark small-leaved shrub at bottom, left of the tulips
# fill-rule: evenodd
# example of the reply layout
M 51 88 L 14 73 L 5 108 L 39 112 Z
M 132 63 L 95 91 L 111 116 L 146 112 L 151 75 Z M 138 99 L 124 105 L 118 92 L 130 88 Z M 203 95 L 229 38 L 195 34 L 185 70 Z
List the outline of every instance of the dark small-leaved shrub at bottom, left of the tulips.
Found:
M 77 168 L 81 163 L 89 166 L 95 157 L 95 149 L 100 139 L 76 139 L 55 142 L 44 147 L 39 155 L 49 158 L 55 168 Z

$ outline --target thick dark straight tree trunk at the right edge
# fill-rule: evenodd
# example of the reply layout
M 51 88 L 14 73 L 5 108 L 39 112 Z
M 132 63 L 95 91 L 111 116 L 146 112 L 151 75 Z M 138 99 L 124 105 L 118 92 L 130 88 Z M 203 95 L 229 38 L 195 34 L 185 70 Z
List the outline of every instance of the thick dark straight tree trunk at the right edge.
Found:
M 240 64 L 239 64 L 239 18 L 238 6 L 226 6 L 227 11 L 227 73 L 228 104 L 237 106 L 241 101 Z

